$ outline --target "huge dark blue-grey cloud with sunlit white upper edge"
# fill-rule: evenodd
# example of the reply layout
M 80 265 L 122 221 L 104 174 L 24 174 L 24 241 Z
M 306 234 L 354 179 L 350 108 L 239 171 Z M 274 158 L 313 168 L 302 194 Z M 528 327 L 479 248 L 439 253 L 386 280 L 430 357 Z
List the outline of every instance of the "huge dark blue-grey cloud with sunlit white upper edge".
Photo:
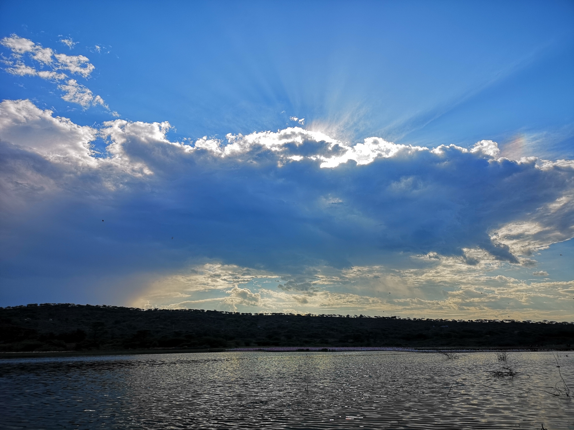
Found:
M 487 141 L 472 151 L 378 138 L 349 147 L 290 128 L 192 147 L 166 140 L 169 124 L 117 120 L 100 130 L 109 157 L 95 159 L 96 130 L 14 103 L 3 102 L 0 123 L 5 302 L 42 291 L 61 301 L 70 279 L 90 297 L 118 288 L 111 279 L 206 260 L 280 273 L 285 291 L 313 291 L 297 278 L 309 268 L 398 253 L 482 248 L 519 263 L 526 253 L 510 236 L 492 239 L 497 229 L 534 220 L 564 236 L 574 224 L 570 206 L 543 210 L 572 195 L 571 163 L 498 159 Z M 52 143 L 18 134 L 29 127 Z

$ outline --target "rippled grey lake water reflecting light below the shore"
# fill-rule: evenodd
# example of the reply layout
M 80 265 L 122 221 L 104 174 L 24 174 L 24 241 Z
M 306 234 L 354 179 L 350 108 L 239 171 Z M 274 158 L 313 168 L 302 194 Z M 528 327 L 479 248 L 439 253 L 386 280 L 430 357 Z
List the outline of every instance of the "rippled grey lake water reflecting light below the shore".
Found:
M 0 428 L 574 429 L 554 356 L 574 388 L 567 352 L 2 359 Z

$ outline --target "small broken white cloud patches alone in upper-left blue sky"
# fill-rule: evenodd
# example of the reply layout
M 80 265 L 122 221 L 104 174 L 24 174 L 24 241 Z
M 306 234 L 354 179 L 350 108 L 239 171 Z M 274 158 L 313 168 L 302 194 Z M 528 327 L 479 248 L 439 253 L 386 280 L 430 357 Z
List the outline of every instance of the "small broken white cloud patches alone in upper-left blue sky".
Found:
M 71 39 L 63 39 L 60 42 L 68 45 L 70 49 L 77 43 Z M 95 68 L 89 62 L 90 59 L 83 55 L 69 56 L 59 54 L 51 48 L 44 48 L 42 45 L 19 37 L 16 34 L 3 38 L 0 40 L 0 43 L 11 50 L 10 59 L 5 60 L 8 67 L 4 69 L 11 75 L 38 76 L 42 79 L 58 82 L 68 78 L 65 72 L 71 72 L 74 75 L 80 75 L 87 79 Z M 24 54 L 28 54 L 29 60 L 35 60 L 36 62 L 29 61 L 26 64 Z M 44 70 L 44 67 L 49 70 Z M 59 84 L 57 87 L 64 92 L 61 98 L 65 101 L 79 104 L 84 109 L 90 106 L 101 105 L 109 110 L 102 97 L 99 95 L 94 96 L 90 89 L 85 85 L 79 84 L 75 79 L 68 79 L 64 84 Z

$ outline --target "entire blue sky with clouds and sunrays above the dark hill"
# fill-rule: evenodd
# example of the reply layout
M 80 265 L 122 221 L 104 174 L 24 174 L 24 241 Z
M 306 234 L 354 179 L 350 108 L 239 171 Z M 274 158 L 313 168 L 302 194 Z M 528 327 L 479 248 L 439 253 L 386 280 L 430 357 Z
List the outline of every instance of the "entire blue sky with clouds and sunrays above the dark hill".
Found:
M 572 321 L 573 23 L 0 2 L 0 306 Z

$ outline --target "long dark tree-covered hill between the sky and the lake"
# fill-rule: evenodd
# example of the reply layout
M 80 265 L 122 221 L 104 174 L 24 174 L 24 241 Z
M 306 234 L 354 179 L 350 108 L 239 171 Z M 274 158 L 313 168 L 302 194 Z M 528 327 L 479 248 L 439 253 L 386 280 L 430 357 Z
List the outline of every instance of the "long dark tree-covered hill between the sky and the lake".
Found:
M 0 351 L 297 346 L 571 349 L 574 323 L 240 314 L 76 304 L 0 308 Z

